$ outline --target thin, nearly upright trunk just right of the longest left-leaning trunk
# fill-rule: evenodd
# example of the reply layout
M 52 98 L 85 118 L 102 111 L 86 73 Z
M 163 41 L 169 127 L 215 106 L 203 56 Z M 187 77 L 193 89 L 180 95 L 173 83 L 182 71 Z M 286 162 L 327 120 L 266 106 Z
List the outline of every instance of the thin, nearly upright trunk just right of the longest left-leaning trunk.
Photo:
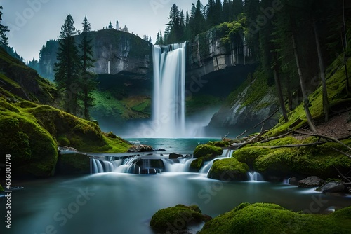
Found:
M 328 121 L 328 119 L 329 119 L 329 100 L 328 100 L 328 92 L 326 90 L 326 77 L 325 77 L 325 73 L 324 73 L 322 51 L 321 51 L 321 46 L 319 44 L 316 22 L 313 22 L 313 29 L 314 29 L 314 36 L 316 38 L 316 46 L 317 46 L 318 62 L 319 62 L 319 72 L 320 72 L 321 80 L 322 80 L 323 109 L 324 109 L 325 121 Z

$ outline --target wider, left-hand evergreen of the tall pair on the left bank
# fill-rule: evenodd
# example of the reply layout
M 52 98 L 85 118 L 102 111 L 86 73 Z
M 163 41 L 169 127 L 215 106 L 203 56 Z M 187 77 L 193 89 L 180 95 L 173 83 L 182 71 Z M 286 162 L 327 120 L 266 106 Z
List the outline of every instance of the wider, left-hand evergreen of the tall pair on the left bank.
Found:
M 74 35 L 76 28 L 71 15 L 67 15 L 61 27 L 58 62 L 55 63 L 55 83 L 64 94 L 64 109 L 68 113 L 77 115 L 79 111 L 79 95 L 81 95 L 81 81 L 79 80 L 80 63 L 79 53 Z

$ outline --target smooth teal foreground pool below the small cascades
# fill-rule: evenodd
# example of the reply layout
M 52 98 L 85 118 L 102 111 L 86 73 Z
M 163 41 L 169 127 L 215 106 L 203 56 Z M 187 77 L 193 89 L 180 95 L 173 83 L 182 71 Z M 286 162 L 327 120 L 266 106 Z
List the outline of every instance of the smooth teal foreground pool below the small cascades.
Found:
M 223 182 L 206 174 L 164 172 L 154 175 L 116 172 L 55 178 L 22 184 L 13 192 L 11 233 L 110 234 L 154 233 L 149 228 L 157 210 L 179 203 L 197 204 L 218 216 L 241 202 L 274 202 L 294 211 L 324 212 L 351 205 L 334 197 L 287 184 Z M 0 199 L 1 207 L 5 199 Z M 1 208 L 4 217 L 4 209 Z M 8 233 L 1 225 L 0 233 Z M 7 232 L 5 232 L 7 231 Z

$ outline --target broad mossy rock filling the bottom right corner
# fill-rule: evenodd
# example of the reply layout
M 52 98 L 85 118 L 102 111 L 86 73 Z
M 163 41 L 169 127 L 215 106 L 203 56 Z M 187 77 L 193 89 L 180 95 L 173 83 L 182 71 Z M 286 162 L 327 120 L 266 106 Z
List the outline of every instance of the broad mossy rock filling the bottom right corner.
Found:
M 199 234 L 349 233 L 351 207 L 333 214 L 301 214 L 279 205 L 243 203 L 205 223 Z

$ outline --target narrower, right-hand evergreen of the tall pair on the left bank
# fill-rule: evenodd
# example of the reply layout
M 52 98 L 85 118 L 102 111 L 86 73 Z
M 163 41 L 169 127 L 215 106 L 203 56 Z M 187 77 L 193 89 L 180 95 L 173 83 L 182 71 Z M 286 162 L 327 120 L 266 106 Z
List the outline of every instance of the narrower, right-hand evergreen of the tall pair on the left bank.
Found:
M 91 24 L 88 22 L 86 16 L 83 20 L 83 29 L 81 33 L 81 41 L 79 48 L 81 49 L 81 89 L 83 92 L 83 106 L 84 106 L 84 118 L 89 119 L 89 108 L 93 106 L 93 97 L 91 93 L 96 90 L 96 75 L 88 70 L 94 67 L 93 60 L 93 46 L 91 42 L 93 39 L 89 38 L 88 32 L 91 31 Z

